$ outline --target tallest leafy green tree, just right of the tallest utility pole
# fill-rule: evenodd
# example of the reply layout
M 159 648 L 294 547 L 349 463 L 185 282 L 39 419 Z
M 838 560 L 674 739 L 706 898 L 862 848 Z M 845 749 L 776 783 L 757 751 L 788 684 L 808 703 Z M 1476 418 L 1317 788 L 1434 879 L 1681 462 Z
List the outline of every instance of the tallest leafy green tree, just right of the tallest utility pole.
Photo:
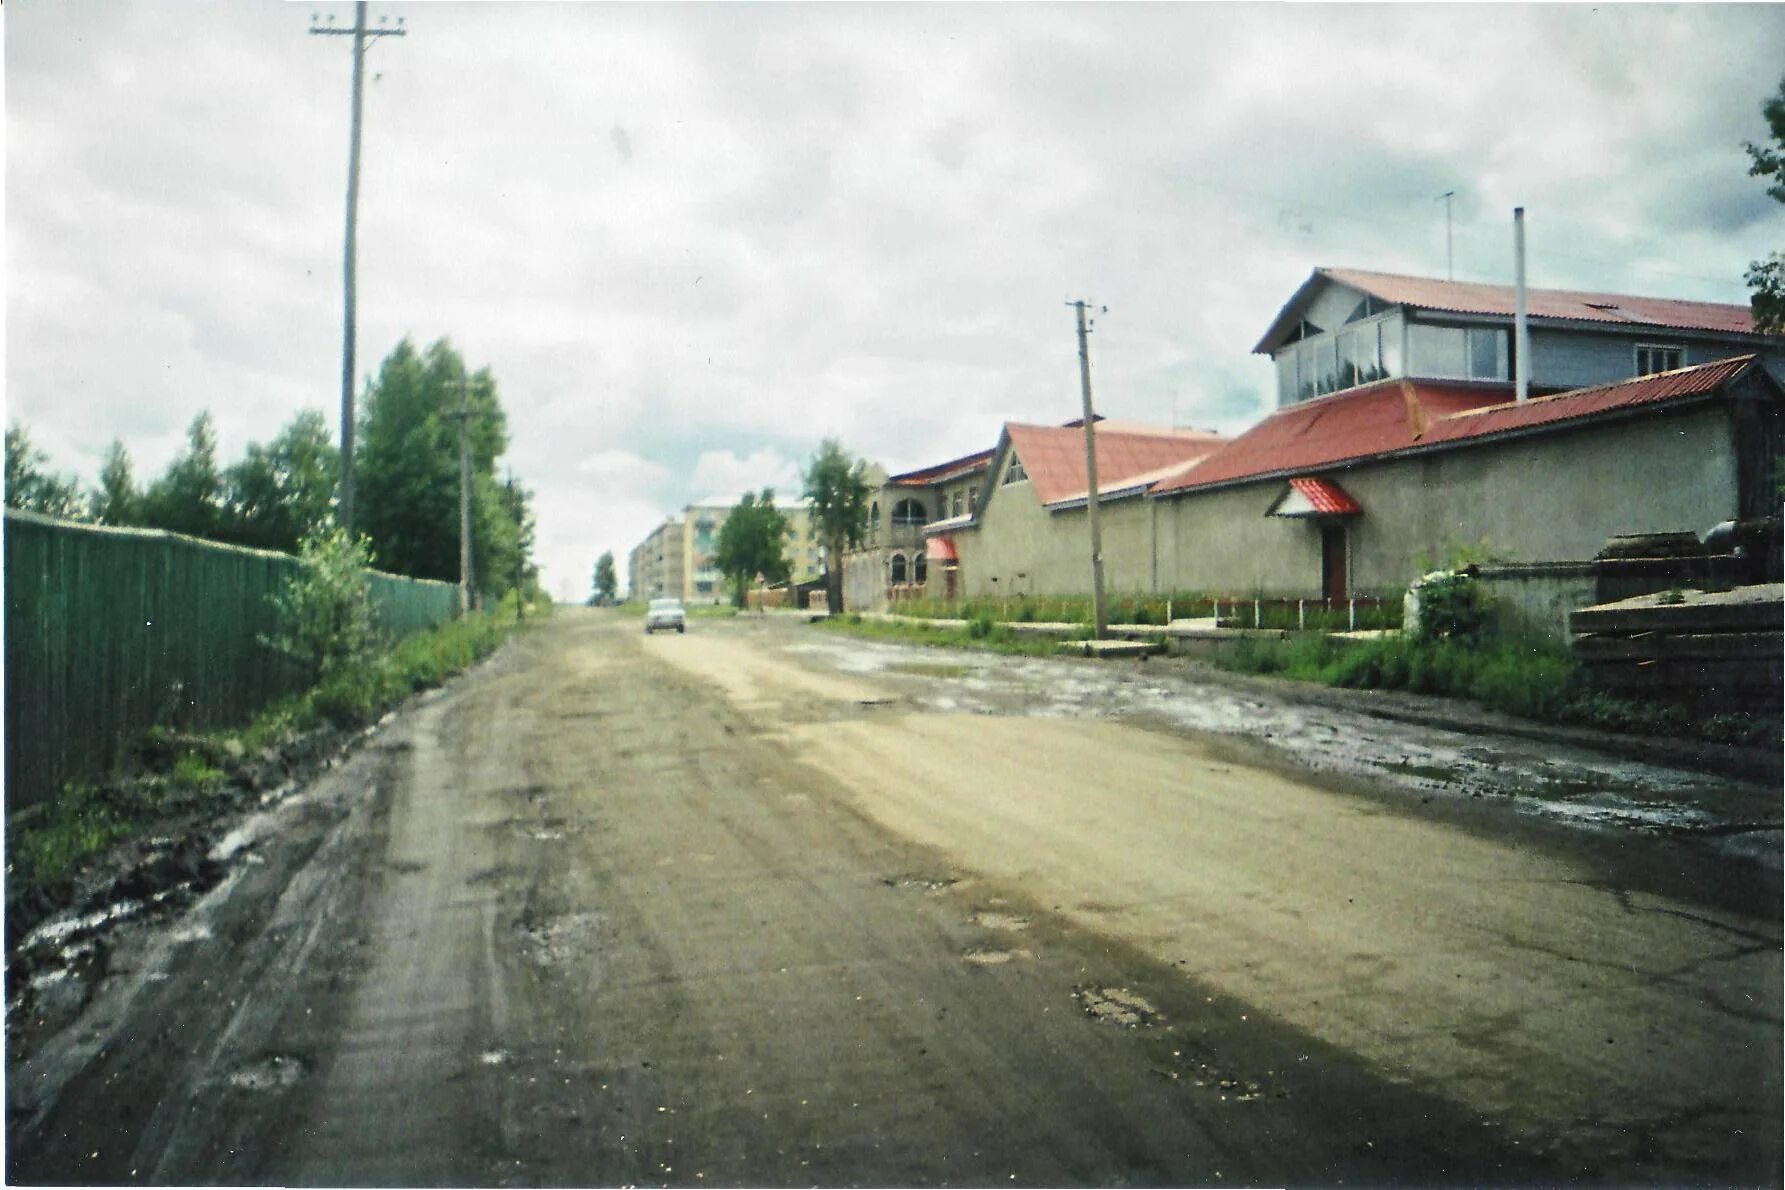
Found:
M 416 578 L 459 580 L 459 393 L 469 398 L 473 582 L 500 596 L 514 582 L 519 533 L 496 482 L 507 417 L 487 369 L 466 373 L 441 339 L 391 350 L 361 403 L 353 519 L 378 566 Z

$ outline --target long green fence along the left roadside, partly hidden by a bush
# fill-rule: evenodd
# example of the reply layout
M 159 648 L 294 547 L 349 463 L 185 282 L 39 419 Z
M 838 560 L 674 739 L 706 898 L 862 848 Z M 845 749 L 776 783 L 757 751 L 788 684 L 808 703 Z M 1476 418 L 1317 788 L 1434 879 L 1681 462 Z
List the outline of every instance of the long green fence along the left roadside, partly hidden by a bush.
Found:
M 105 773 L 155 724 L 248 723 L 305 674 L 261 644 L 284 553 L 5 510 L 5 808 Z M 453 612 L 450 583 L 371 574 L 393 637 Z

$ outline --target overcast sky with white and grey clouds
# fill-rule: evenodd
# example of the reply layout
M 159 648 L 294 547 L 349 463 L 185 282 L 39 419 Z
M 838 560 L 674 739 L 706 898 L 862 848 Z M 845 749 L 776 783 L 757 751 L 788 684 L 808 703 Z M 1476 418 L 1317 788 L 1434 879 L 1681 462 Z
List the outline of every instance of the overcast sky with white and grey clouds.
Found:
M 352 5 L 5 4 L 7 416 L 93 482 L 339 405 Z M 1746 302 L 1785 7 L 375 4 L 359 360 L 493 369 L 541 562 L 823 437 L 892 471 L 1098 410 L 1239 430 L 1319 264 Z

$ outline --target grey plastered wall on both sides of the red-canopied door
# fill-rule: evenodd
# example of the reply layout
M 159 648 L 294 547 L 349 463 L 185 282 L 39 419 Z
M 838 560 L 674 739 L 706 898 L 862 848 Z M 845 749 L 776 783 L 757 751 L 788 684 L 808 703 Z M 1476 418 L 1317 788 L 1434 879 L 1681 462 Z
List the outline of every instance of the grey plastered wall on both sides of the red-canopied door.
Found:
M 1699 533 L 1737 514 L 1733 428 L 1699 407 L 1587 430 L 1328 471 L 1362 507 L 1348 526 L 1355 594 L 1401 591 L 1487 539 L 1510 562 L 1590 558 L 1614 533 Z M 1319 594 L 1310 521 L 1266 516 L 1264 480 L 1160 503 L 1160 582 L 1208 594 Z

